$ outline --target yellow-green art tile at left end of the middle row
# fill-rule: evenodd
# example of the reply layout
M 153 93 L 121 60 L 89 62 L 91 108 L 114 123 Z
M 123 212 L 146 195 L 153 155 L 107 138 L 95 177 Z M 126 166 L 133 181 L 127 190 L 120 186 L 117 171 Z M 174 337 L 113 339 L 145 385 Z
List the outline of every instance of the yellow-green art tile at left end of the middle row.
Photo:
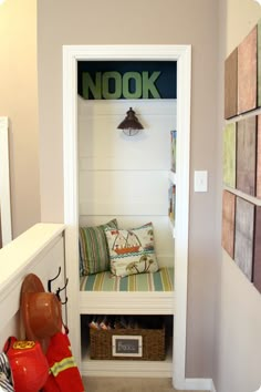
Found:
M 236 122 L 223 131 L 223 184 L 231 188 L 236 188 Z

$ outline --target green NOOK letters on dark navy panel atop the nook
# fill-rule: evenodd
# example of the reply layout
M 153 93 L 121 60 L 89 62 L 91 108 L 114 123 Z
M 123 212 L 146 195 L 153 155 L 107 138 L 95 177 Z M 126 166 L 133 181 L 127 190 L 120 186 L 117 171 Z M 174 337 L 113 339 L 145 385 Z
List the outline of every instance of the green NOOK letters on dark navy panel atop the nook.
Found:
M 175 61 L 79 62 L 79 94 L 85 100 L 177 97 Z

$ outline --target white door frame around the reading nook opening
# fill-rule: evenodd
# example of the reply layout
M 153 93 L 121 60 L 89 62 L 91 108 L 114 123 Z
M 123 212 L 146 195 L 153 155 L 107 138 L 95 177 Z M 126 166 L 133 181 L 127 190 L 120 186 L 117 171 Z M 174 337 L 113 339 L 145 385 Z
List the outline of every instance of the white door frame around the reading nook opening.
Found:
M 74 357 L 81 363 L 79 317 L 77 195 L 77 61 L 177 61 L 177 214 L 175 240 L 174 385 L 186 388 L 186 323 L 190 153 L 190 45 L 65 45 L 63 47 L 64 223 L 69 283 L 67 323 Z

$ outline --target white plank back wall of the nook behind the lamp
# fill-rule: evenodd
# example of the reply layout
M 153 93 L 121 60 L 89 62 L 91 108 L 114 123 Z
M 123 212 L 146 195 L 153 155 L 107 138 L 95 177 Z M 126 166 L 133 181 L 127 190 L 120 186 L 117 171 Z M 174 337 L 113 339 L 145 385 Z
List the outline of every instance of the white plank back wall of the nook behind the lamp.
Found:
M 133 107 L 144 130 L 126 136 L 117 125 Z M 79 97 L 80 225 L 116 217 L 119 227 L 153 221 L 160 265 L 171 265 L 168 223 L 170 130 L 176 100 L 84 101 Z

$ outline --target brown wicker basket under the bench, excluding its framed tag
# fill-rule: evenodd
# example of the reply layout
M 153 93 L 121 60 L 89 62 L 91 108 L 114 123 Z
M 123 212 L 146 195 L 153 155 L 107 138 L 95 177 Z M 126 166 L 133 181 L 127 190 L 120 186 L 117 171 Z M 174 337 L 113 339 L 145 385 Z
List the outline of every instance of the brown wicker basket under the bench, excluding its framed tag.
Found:
M 142 337 L 142 355 L 127 357 L 113 353 L 113 337 Z M 160 329 L 90 329 L 91 359 L 95 360 L 165 360 L 165 328 Z

